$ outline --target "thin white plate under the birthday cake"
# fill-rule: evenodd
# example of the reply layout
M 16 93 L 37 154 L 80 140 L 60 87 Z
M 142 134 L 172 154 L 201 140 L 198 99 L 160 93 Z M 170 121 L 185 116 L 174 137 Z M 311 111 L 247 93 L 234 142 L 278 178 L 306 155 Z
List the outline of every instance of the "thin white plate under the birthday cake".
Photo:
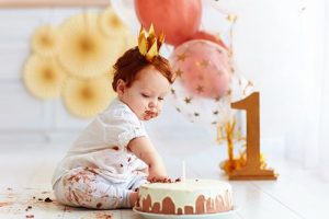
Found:
M 143 212 L 137 210 L 136 208 L 133 208 L 133 210 L 145 219 L 232 219 L 237 208 L 234 207 L 232 210 L 226 212 L 204 215 L 161 215 L 152 212 Z

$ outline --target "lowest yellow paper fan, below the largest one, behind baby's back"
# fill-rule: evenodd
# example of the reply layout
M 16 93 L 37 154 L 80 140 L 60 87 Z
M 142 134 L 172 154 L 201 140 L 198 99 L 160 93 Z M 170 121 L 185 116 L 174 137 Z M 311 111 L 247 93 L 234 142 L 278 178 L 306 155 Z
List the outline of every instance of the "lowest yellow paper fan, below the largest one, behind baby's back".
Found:
M 80 80 L 70 78 L 64 89 L 67 110 L 79 117 L 92 117 L 103 111 L 116 96 L 107 76 Z

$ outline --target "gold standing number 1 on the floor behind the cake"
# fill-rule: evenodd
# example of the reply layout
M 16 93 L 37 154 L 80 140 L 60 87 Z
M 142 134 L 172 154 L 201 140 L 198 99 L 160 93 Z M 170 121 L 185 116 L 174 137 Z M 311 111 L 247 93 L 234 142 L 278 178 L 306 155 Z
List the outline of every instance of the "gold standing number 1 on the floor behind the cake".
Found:
M 273 170 L 261 168 L 259 92 L 231 103 L 231 107 L 247 112 L 247 162 L 242 168 L 229 172 L 229 180 L 276 180 Z

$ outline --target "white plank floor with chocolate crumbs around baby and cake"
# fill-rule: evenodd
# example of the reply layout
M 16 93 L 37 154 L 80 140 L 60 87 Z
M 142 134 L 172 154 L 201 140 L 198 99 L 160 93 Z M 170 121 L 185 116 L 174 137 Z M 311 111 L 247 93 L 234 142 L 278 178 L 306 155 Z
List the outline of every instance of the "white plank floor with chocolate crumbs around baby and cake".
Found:
M 65 151 L 65 147 L 59 145 L 0 147 L 1 219 L 141 218 L 132 210 L 75 209 L 57 204 L 49 181 Z M 197 153 L 184 154 L 188 177 L 227 181 L 218 169 L 219 161 L 226 158 L 225 147 L 206 147 Z M 182 155 L 167 151 L 163 158 L 169 174 L 172 177 L 180 176 Z M 238 208 L 232 218 L 329 218 L 328 182 L 322 182 L 314 172 L 304 171 L 280 155 L 275 158 L 274 154 L 269 162 L 280 173 L 277 181 L 229 182 Z M 47 197 L 53 201 L 44 201 Z

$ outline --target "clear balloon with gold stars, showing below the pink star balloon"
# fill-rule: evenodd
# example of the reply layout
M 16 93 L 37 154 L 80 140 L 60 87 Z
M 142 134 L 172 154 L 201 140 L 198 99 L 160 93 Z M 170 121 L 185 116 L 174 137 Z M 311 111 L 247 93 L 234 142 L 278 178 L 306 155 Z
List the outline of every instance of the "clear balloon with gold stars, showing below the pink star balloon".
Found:
M 236 110 L 230 107 L 231 102 L 242 100 L 254 91 L 252 82 L 243 78 L 238 71 L 231 73 L 229 91 L 220 99 L 205 99 L 189 92 L 178 78 L 172 84 L 171 100 L 175 110 L 191 123 L 217 126 L 230 120 Z

